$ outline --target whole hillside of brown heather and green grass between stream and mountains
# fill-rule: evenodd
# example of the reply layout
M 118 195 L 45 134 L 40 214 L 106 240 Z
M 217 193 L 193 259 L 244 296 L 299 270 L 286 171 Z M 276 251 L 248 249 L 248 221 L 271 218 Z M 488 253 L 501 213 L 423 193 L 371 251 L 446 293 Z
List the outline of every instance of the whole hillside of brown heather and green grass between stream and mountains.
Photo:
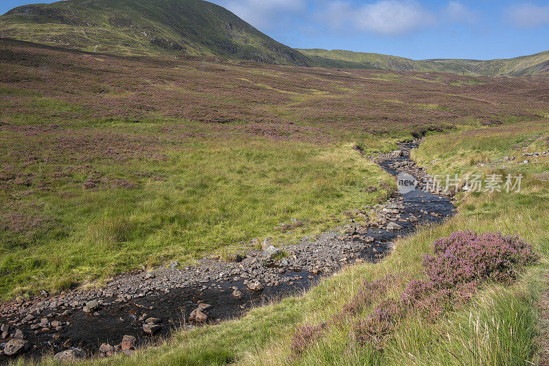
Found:
M 549 114 L 549 80 L 98 56 L 0 40 L 0 296 L 336 225 L 352 150 Z M 281 233 L 275 225 L 305 225 Z M 52 255 L 51 253 L 62 253 Z

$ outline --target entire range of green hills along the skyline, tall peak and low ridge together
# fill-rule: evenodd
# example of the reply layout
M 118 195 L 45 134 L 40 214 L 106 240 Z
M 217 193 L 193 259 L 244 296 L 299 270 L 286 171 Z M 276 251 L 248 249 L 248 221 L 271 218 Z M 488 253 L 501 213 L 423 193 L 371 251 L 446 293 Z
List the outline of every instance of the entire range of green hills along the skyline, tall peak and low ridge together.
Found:
M 526 76 L 549 72 L 549 52 L 500 60 L 411 60 L 340 49 L 292 49 L 202 0 L 68 0 L 0 16 L 0 37 L 122 55 L 189 54 L 279 65 Z

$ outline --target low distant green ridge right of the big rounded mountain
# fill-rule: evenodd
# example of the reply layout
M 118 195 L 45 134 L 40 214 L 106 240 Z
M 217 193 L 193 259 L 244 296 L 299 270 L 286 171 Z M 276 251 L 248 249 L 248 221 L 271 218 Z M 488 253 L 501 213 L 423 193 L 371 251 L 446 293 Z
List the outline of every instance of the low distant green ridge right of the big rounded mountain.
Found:
M 342 49 L 298 49 L 321 67 L 448 72 L 482 76 L 526 76 L 549 72 L 549 51 L 498 60 L 411 60 L 397 56 L 351 52 Z

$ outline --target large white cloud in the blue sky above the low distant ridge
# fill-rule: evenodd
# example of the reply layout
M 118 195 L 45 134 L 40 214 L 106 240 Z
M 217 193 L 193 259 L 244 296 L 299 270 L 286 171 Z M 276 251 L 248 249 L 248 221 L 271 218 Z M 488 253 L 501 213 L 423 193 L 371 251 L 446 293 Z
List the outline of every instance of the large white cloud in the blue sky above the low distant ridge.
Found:
M 438 10 L 425 8 L 414 0 L 378 0 L 353 6 L 349 1 L 327 2 L 320 19 L 334 28 L 371 32 L 386 36 L 407 34 L 442 23 L 471 22 L 474 13 L 458 1 L 449 1 Z

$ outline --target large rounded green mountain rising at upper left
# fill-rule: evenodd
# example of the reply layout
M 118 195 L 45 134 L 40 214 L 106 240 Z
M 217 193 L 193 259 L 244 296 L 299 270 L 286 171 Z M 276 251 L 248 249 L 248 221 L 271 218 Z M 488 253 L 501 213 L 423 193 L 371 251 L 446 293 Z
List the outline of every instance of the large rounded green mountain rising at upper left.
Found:
M 308 66 L 300 52 L 201 0 L 69 0 L 0 16 L 0 36 L 132 55 L 190 54 Z

